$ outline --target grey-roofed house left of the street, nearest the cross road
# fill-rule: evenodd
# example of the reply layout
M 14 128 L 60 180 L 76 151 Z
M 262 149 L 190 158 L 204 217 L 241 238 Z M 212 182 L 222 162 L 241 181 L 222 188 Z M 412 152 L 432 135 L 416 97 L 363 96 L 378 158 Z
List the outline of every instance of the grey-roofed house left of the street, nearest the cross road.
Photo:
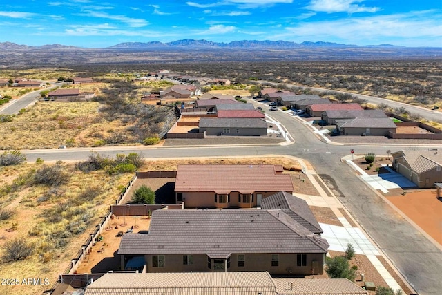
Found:
M 267 122 L 261 118 L 211 118 L 200 119 L 200 133 L 206 135 L 237 135 L 260 136 L 267 135 Z

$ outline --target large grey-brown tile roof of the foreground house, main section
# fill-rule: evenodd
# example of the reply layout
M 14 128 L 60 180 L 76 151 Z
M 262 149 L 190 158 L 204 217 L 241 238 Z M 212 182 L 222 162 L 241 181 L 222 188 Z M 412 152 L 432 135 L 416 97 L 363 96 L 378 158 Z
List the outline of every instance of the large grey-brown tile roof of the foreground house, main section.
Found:
M 229 238 L 226 238 L 229 237 Z M 327 253 L 324 238 L 281 210 L 156 210 L 148 234 L 126 234 L 118 254 Z

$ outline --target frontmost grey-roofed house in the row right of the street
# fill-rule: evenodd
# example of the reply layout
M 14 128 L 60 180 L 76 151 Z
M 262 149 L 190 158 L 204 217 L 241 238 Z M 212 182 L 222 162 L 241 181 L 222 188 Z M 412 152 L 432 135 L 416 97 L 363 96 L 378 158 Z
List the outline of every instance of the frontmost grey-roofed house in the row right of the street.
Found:
M 381 135 L 396 132 L 396 124 L 390 117 L 376 118 L 356 117 L 354 119 L 336 120 L 336 131 L 340 135 Z

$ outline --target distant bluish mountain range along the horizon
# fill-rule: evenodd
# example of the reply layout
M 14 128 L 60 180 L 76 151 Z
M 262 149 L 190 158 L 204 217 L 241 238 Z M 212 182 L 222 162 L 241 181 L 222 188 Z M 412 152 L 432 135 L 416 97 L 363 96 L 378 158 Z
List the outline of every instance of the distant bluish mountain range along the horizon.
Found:
M 177 41 L 172 41 L 168 43 L 162 43 L 159 41 L 151 42 L 126 42 L 119 43 L 114 46 L 109 46 L 109 49 L 144 49 L 144 48 L 303 48 L 303 47 L 334 47 L 334 48 L 403 48 L 405 46 L 394 46 L 390 44 L 381 45 L 368 45 L 368 46 L 358 46 L 349 44 L 338 44 L 331 42 L 311 42 L 305 41 L 300 44 L 290 41 L 256 41 L 256 40 L 243 40 L 243 41 L 231 41 L 229 43 L 218 43 L 207 40 L 194 40 L 194 39 L 182 39 Z M 19 45 L 12 42 L 0 42 L 0 50 L 26 50 L 26 49 L 90 49 L 81 48 L 77 46 L 66 46 L 61 44 L 51 44 L 43 46 L 27 46 Z

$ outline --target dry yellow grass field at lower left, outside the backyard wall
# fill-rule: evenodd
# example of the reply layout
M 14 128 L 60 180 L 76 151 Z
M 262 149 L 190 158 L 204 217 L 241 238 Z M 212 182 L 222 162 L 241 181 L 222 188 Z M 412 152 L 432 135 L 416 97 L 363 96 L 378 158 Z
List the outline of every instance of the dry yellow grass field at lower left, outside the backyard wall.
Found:
M 4 178 L 0 178 L 0 187 L 10 187 L 17 183 L 20 175 L 32 173 L 39 169 L 41 165 L 21 164 L 0 168 Z M 69 261 L 81 245 L 86 241 L 88 235 L 93 231 L 99 220 L 99 216 L 104 216 L 109 204 L 113 204 L 119 194 L 119 187 L 126 185 L 133 176 L 131 174 L 109 176 L 104 171 L 96 171 L 89 174 L 75 170 L 73 164 L 64 164 L 64 168 L 70 175 L 70 180 L 59 187 L 63 194 L 58 198 L 51 196 L 46 201 L 41 201 L 49 188 L 42 185 L 23 184 L 14 193 L 1 193 L 1 207 L 15 210 L 16 214 L 7 221 L 0 222 L 0 246 L 4 242 L 15 237 L 22 237 L 27 242 L 34 245 L 35 253 L 23 261 L 15 263 L 0 264 L 1 278 L 48 278 L 50 285 L 43 286 L 18 286 L 8 289 L 6 294 L 39 294 L 44 289 L 49 289 L 57 279 L 57 274 L 68 267 Z M 99 194 L 92 201 L 81 200 L 81 192 L 91 187 L 98 187 Z M 13 198 L 11 197 L 13 195 Z M 57 238 L 50 238 L 54 234 L 66 227 L 66 224 L 78 220 L 79 216 L 71 214 L 68 219 L 61 218 L 59 222 L 48 222 L 48 214 L 57 209 L 61 204 L 72 202 L 76 211 L 84 210 L 90 214 L 88 222 L 84 222 L 86 227 L 81 234 L 75 234 L 67 238 L 66 247 L 55 247 Z M 72 211 L 72 209 L 70 209 Z M 72 213 L 72 212 L 71 212 Z M 61 213 L 64 216 L 64 213 Z M 57 216 L 55 216 L 57 217 Z M 12 222 L 18 223 L 16 231 L 8 232 Z M 81 226 L 81 224 L 80 224 Z M 30 231 L 37 230 L 38 236 L 30 236 Z M 3 286 L 2 286 L 3 287 Z M 2 289 L 2 291 L 6 289 Z

